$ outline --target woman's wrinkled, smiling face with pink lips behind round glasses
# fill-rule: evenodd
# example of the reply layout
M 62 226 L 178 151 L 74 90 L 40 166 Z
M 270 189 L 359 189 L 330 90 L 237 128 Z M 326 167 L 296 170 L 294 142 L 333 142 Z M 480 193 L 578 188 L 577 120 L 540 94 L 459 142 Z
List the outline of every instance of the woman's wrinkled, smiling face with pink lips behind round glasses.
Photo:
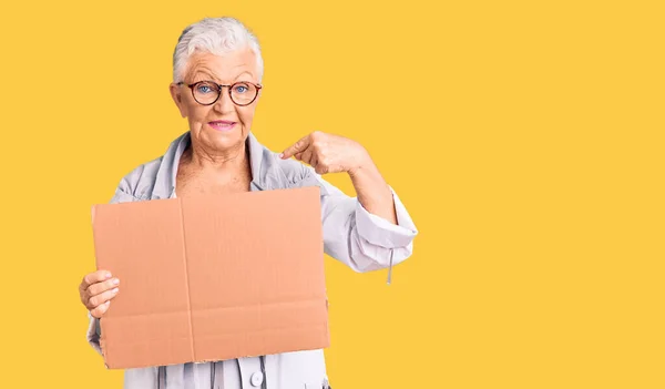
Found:
M 237 81 L 258 84 L 254 52 L 247 49 L 224 57 L 194 53 L 187 62 L 183 81 L 181 85 L 172 83 L 170 89 L 181 115 L 190 122 L 192 141 L 209 154 L 242 147 L 252 127 L 258 96 L 252 104 L 239 106 L 231 100 L 228 88 L 225 86 L 214 104 L 202 105 L 194 100 L 187 84 L 198 81 L 214 81 L 224 85 Z

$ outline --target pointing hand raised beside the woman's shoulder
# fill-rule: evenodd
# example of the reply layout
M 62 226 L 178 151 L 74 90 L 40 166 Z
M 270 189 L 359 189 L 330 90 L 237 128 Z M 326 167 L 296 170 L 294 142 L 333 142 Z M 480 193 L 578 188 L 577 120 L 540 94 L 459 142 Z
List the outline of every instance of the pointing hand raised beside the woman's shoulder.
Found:
M 291 156 L 309 164 L 317 174 L 347 172 L 352 175 L 371 164 L 369 153 L 358 142 L 320 131 L 300 139 L 280 154 L 283 160 Z

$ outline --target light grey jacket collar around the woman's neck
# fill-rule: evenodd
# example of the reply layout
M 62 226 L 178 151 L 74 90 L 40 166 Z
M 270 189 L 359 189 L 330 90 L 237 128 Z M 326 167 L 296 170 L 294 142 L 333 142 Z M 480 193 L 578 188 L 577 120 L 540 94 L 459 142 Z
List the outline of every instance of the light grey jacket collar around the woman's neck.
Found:
M 175 181 L 180 158 L 191 142 L 192 137 L 190 131 L 171 142 L 171 145 L 160 162 L 160 168 L 155 177 L 155 185 L 153 187 L 151 199 L 172 198 L 175 196 Z M 249 149 L 249 167 L 252 170 L 250 190 L 263 191 L 264 185 L 260 183 L 263 175 L 265 175 L 265 172 L 262 172 L 263 158 L 264 154 L 268 151 L 256 140 L 252 132 L 247 135 L 246 145 Z

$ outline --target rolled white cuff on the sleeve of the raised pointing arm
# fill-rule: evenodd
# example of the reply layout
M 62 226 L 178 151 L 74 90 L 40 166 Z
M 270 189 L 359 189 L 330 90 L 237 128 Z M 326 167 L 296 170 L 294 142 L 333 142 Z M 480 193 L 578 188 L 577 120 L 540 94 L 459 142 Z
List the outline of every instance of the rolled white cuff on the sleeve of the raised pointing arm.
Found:
M 386 248 L 406 247 L 418 235 L 418 229 L 416 229 L 411 216 L 397 193 L 395 193 L 391 186 L 389 187 L 397 213 L 397 225 L 369 213 L 359 201 L 356 201 L 356 226 L 358 235 L 372 245 Z

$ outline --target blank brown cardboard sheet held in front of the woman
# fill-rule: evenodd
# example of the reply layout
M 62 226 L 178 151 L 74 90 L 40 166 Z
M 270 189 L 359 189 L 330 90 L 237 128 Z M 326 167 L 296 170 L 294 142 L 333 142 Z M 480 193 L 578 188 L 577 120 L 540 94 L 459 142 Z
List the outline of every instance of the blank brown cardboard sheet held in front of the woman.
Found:
M 329 346 L 318 187 L 93 206 L 112 369 Z

